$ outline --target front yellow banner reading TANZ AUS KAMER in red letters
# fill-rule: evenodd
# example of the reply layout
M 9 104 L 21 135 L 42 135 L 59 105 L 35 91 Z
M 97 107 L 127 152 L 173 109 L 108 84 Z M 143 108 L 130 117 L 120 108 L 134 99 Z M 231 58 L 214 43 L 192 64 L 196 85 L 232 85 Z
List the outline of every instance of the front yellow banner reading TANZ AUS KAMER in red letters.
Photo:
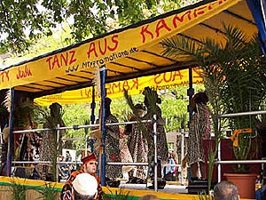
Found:
M 43 55 L 24 64 L 6 68 L 0 71 L 0 90 L 74 74 L 76 71 L 119 60 L 131 53 L 145 50 L 146 47 L 160 42 L 162 38 L 192 28 L 238 2 L 239 0 L 217 0 L 184 12 L 173 12 L 168 17 L 111 32 L 103 37 L 92 38 L 86 43 L 75 44 L 71 49 Z M 106 67 L 108 68 L 108 65 Z

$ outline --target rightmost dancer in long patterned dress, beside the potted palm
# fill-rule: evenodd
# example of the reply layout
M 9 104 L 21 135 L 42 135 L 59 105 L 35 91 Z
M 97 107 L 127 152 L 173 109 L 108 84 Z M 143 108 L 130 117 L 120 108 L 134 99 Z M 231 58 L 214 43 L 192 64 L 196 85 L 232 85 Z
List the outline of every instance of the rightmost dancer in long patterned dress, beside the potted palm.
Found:
M 207 108 L 206 92 L 196 93 L 191 101 L 193 109 L 192 120 L 190 122 L 188 139 L 188 164 L 192 170 L 192 180 L 198 180 L 198 169 L 200 164 L 200 174 L 202 179 L 207 179 L 206 164 L 202 141 L 210 138 L 210 111 Z

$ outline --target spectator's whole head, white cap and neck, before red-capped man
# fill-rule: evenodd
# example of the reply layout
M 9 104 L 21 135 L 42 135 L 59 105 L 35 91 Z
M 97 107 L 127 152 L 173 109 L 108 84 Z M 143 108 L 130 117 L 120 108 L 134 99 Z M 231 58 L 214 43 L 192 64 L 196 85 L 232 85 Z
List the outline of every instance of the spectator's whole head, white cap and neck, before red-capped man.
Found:
M 72 184 L 74 200 L 90 200 L 98 194 L 98 181 L 88 173 L 78 174 Z

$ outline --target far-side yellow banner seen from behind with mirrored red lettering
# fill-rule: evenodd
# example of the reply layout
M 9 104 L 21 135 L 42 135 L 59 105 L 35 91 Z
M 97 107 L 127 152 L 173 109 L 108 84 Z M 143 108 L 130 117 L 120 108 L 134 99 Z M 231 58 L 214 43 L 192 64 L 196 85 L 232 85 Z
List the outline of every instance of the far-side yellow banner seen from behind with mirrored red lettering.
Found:
M 200 70 L 193 68 L 193 83 L 202 84 Z M 173 89 L 177 86 L 189 84 L 189 70 L 166 72 L 154 76 L 144 76 L 129 80 L 106 84 L 106 94 L 109 98 L 123 97 L 123 88 L 129 91 L 130 95 L 136 95 L 143 92 L 146 86 L 152 87 L 156 91 Z M 98 101 L 98 96 L 96 97 Z M 75 91 L 66 91 L 59 94 L 53 94 L 36 98 L 35 103 L 40 106 L 48 106 L 51 103 L 58 102 L 60 104 L 82 103 L 92 101 L 92 87 L 83 88 Z

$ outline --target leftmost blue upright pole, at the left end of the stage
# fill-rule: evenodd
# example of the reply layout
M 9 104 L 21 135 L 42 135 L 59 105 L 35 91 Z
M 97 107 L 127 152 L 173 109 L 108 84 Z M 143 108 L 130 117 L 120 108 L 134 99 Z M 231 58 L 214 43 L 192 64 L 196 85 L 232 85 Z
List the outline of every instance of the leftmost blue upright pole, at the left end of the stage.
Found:
M 10 115 L 9 115 L 9 140 L 8 140 L 8 148 L 7 148 L 7 157 L 6 157 L 6 165 L 5 165 L 5 174 L 6 176 L 11 176 L 11 169 L 12 169 L 12 157 L 13 157 L 13 150 L 14 150 L 14 136 L 13 136 L 13 110 L 14 110 L 14 98 L 15 98 L 15 91 L 13 88 L 10 89 L 11 93 L 11 108 L 10 108 Z

